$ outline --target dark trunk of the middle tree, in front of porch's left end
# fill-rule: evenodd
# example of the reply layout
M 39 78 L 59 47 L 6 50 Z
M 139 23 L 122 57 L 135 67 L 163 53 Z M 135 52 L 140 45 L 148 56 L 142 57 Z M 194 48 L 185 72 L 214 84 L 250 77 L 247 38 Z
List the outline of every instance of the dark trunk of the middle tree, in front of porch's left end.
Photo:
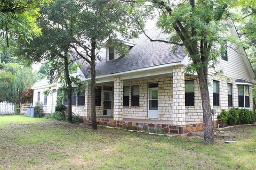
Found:
M 96 83 L 96 72 L 95 72 L 95 49 L 96 43 L 92 39 L 91 48 L 91 118 L 92 118 L 92 129 L 97 130 L 97 120 L 96 120 L 96 109 L 95 109 L 95 83 Z

